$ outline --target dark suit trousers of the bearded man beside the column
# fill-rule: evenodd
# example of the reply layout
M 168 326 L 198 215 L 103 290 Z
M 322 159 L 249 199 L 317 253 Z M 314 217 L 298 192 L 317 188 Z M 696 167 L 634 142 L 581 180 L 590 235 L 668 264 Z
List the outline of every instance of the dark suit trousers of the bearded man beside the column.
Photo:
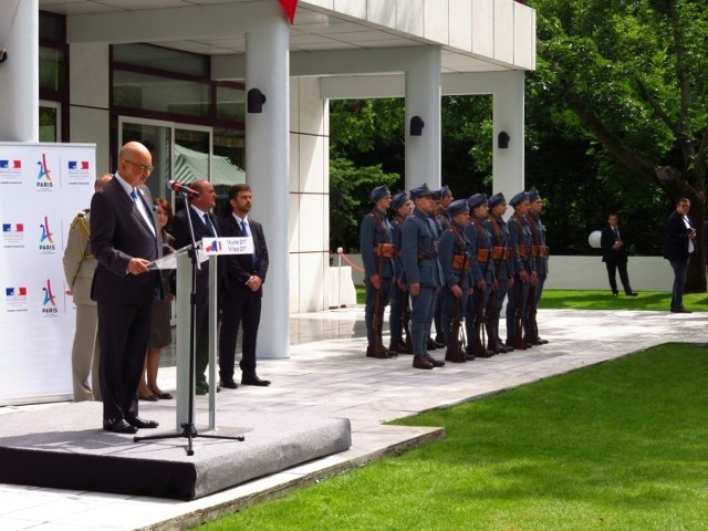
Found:
M 256 345 L 258 326 L 261 322 L 263 291 L 251 291 L 246 285 L 237 285 L 221 295 L 221 330 L 219 331 L 219 376 L 221 382 L 233 378 L 236 343 L 239 326 L 243 326 L 241 362 L 243 375 L 256 375 Z

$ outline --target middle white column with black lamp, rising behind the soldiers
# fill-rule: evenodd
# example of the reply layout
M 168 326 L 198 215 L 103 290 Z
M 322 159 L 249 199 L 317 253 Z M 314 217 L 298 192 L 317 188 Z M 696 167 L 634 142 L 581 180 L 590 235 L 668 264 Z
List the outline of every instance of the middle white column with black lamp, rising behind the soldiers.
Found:
M 412 49 L 406 71 L 406 189 L 424 183 L 439 188 L 440 179 L 440 49 Z M 420 136 L 410 136 L 410 119 L 424 122 Z

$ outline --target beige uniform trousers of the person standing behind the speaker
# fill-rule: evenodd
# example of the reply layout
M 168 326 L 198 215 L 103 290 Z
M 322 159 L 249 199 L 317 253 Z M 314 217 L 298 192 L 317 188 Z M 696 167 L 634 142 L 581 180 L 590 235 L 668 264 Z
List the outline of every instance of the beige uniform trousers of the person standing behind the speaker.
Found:
M 101 400 L 98 311 L 95 304 L 76 304 L 76 332 L 71 350 L 74 402 Z M 91 385 L 88 376 L 91 375 Z

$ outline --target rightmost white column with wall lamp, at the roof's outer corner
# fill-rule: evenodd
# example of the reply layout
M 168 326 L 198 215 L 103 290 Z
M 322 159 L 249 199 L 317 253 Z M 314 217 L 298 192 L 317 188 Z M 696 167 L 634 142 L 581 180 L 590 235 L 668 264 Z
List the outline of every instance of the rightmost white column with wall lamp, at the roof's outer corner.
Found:
M 492 176 L 493 192 L 503 191 L 507 199 L 523 190 L 524 183 L 524 73 L 498 73 L 493 92 Z M 509 147 L 499 147 L 499 134 L 509 135 Z

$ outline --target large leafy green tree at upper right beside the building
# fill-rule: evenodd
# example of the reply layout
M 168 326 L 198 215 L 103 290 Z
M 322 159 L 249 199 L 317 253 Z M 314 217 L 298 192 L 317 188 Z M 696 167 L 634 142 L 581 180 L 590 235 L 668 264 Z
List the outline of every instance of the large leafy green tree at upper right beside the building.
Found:
M 699 0 L 533 0 L 539 64 L 530 90 L 598 143 L 601 178 L 622 168 L 680 197 L 702 235 L 708 156 L 708 15 Z M 688 291 L 705 291 L 701 238 Z

